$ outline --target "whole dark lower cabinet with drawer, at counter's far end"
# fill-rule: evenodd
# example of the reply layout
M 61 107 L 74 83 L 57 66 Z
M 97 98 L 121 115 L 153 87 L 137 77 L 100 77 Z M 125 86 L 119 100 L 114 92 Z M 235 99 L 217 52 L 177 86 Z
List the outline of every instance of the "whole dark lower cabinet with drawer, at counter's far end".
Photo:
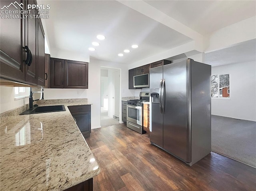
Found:
M 90 137 L 91 133 L 91 105 L 68 106 L 76 125 L 84 137 Z

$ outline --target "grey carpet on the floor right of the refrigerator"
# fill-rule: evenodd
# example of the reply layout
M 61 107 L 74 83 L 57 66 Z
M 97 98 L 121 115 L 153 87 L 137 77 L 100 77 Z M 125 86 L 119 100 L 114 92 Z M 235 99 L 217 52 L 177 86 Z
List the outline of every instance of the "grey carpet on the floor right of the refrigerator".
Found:
M 256 122 L 212 115 L 212 151 L 256 167 Z

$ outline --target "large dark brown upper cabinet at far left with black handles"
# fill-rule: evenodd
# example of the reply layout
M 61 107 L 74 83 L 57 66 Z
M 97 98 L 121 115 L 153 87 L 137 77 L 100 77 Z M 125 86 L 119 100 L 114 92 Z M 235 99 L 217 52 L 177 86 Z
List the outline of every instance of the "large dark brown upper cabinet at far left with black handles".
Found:
M 19 0 L 26 10 L 35 0 Z M 0 7 L 15 1 L 1 0 Z M 8 10 L 17 10 L 14 6 Z M 31 10 L 36 11 L 36 10 Z M 1 19 L 0 77 L 30 85 L 44 86 L 44 30 L 40 18 Z

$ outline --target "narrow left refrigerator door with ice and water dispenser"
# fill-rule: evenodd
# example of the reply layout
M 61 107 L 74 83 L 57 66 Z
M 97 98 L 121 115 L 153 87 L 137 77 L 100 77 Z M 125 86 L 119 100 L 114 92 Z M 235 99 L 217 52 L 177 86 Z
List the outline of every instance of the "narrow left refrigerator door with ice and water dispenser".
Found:
M 150 141 L 160 147 L 163 147 L 163 114 L 159 102 L 159 88 L 163 77 L 163 67 L 159 66 L 150 69 L 150 101 L 151 101 L 151 132 Z M 158 96 L 157 96 L 158 94 Z

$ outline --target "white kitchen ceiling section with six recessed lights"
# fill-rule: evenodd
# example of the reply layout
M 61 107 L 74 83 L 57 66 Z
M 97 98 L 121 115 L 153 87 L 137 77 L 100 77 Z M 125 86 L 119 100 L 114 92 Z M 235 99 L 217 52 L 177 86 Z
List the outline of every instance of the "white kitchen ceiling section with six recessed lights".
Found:
M 152 54 L 191 41 L 190 38 L 120 4 L 117 1 L 44 1 L 50 4 L 46 30 L 50 50 L 89 52 L 91 43 L 100 46 L 90 56 L 130 64 Z M 103 34 L 105 40 L 96 36 Z M 132 49 L 133 44 L 139 48 Z M 124 53 L 129 49 L 130 53 Z M 118 54 L 123 53 L 123 57 Z

